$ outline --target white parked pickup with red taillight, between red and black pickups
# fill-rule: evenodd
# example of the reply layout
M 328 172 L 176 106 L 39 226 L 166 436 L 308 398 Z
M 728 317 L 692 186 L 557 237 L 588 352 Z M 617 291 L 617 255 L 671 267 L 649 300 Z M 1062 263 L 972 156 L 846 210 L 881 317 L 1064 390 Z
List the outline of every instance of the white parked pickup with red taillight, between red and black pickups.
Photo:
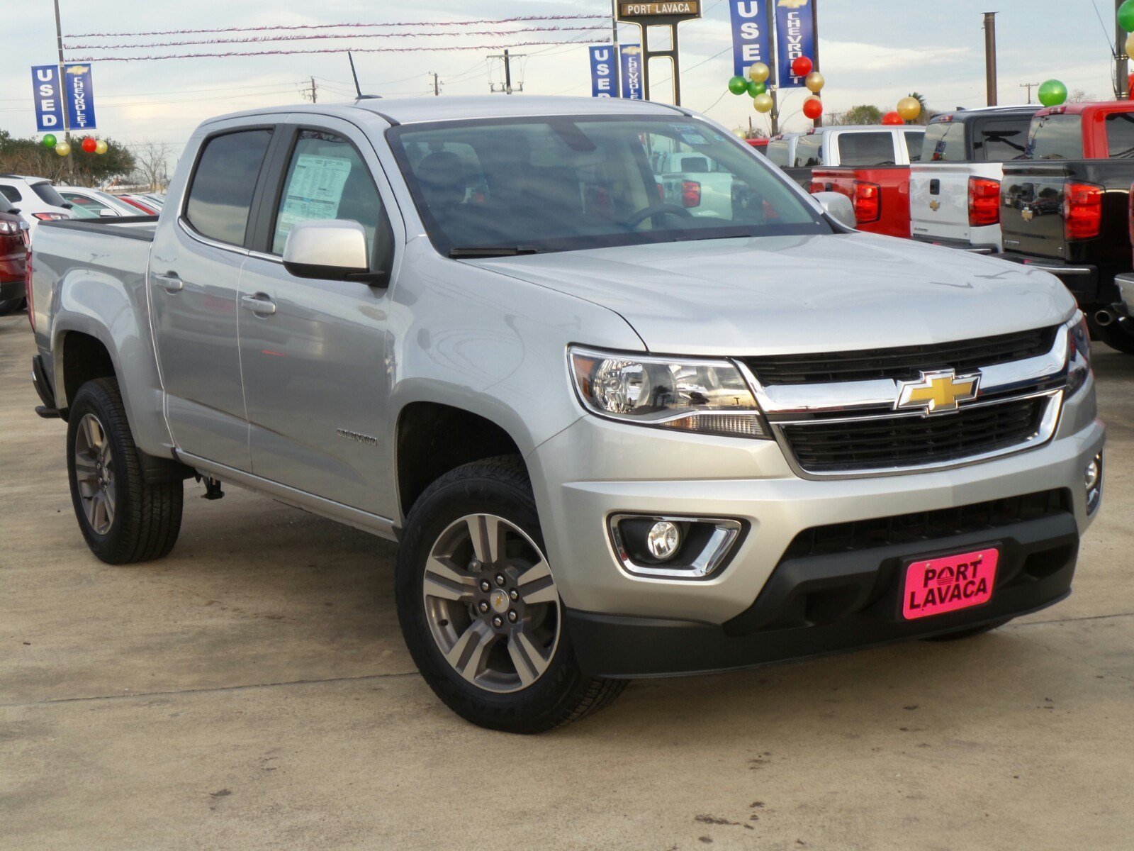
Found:
M 989 107 L 936 116 L 909 167 L 913 238 L 983 254 L 1002 251 L 1004 163 L 1027 151 L 1039 107 Z

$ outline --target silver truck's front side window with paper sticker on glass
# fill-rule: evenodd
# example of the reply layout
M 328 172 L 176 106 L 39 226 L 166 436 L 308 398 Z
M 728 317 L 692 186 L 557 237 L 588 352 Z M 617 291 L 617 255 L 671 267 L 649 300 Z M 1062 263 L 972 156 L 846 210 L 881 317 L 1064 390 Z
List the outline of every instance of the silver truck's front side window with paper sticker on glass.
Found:
M 357 221 L 366 231 L 371 264 L 388 254 L 390 239 L 382 200 L 354 145 L 324 130 L 301 130 L 288 163 L 272 228 L 272 254 L 282 254 L 301 221 Z M 379 243 L 375 243 L 375 239 Z

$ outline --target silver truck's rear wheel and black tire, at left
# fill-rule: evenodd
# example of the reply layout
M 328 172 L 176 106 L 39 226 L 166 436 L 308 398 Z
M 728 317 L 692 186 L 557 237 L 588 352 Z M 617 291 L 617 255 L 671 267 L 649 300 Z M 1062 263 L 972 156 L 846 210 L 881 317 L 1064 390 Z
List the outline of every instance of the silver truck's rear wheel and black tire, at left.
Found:
M 86 545 L 108 564 L 169 554 L 181 529 L 180 481 L 147 482 L 112 378 L 83 385 L 67 421 L 71 504 Z M 100 509 L 101 505 L 101 509 Z

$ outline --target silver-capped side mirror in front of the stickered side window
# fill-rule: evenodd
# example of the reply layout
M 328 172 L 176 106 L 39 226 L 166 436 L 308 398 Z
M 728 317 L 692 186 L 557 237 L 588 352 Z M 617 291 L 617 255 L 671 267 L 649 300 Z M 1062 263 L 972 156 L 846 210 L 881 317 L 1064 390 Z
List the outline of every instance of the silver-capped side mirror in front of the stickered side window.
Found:
M 313 219 L 294 225 L 284 244 L 284 268 L 297 278 L 387 283 L 386 272 L 370 270 L 366 231 L 357 221 Z

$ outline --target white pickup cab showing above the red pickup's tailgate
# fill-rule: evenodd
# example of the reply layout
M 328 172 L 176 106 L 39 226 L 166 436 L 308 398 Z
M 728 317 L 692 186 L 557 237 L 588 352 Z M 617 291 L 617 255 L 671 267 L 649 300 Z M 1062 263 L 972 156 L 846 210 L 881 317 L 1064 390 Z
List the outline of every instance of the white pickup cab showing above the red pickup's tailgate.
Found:
M 924 127 L 816 127 L 792 140 L 788 175 L 804 188 L 816 168 L 908 166 L 921 155 Z M 773 160 L 775 161 L 775 160 Z

